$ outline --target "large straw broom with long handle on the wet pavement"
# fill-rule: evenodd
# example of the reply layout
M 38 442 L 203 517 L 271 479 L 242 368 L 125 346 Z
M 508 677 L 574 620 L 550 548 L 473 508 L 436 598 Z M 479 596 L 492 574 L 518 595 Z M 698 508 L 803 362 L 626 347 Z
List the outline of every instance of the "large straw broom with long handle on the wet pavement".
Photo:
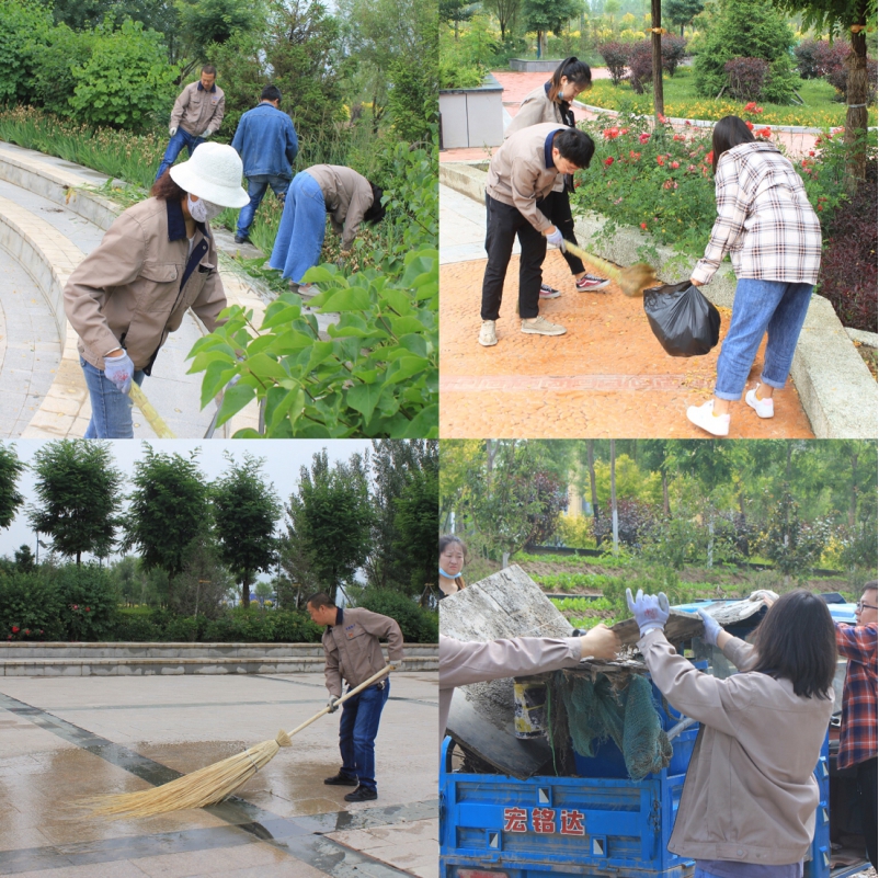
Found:
M 351 692 L 339 698 L 335 704 L 340 705 L 362 692 L 367 686 L 372 686 L 385 674 L 389 673 L 393 665 L 383 668 L 377 674 L 373 674 L 365 683 L 351 689 Z M 316 719 L 320 719 L 324 714 L 329 714 L 329 706 L 315 714 L 311 719 L 307 719 L 293 731 L 285 732 L 283 729 L 270 741 L 251 746 L 243 753 L 236 753 L 233 756 L 215 762 L 199 768 L 197 772 L 178 777 L 160 787 L 144 789 L 139 793 L 123 793 L 115 796 L 93 796 L 80 799 L 80 803 L 88 806 L 92 817 L 109 817 L 119 819 L 123 817 L 153 817 L 163 814 L 168 811 L 180 811 L 184 808 L 205 808 L 208 805 L 216 805 L 228 796 L 231 796 L 240 786 L 253 777 L 264 765 L 267 765 L 282 746 L 290 746 L 290 738 L 300 732 L 306 726 L 310 726 Z

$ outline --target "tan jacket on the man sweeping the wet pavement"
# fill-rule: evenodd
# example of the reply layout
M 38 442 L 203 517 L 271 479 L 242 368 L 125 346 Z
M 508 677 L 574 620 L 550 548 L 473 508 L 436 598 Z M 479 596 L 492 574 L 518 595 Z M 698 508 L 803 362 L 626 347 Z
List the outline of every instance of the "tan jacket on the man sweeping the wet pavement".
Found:
M 385 666 L 379 637 L 388 641 L 388 659 L 395 664 L 403 658 L 403 635 L 389 616 L 363 607 L 339 611 L 341 624 L 328 626 L 321 638 L 327 664 L 323 670 L 330 695 L 342 695 L 342 680 L 359 686 Z

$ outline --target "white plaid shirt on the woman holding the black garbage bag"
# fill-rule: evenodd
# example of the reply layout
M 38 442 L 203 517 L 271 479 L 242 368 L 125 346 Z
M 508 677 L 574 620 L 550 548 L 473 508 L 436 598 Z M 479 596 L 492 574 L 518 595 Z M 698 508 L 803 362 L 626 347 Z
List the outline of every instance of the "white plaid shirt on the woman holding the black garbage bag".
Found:
M 717 163 L 717 219 L 692 277 L 707 284 L 730 254 L 737 277 L 814 284 L 821 225 L 794 166 L 772 145 L 739 144 Z

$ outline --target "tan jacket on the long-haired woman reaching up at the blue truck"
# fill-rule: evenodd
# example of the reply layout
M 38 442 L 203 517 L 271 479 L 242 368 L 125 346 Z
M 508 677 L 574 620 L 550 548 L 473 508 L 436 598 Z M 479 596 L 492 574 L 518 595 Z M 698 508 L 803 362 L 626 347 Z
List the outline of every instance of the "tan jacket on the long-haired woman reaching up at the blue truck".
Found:
M 737 637 L 723 654 L 744 673 L 726 680 L 694 668 L 659 629 L 638 648 L 669 703 L 703 723 L 669 850 L 765 866 L 802 859 L 814 834 L 812 772 L 833 699 L 802 698 L 787 680 L 749 672 L 754 648 Z

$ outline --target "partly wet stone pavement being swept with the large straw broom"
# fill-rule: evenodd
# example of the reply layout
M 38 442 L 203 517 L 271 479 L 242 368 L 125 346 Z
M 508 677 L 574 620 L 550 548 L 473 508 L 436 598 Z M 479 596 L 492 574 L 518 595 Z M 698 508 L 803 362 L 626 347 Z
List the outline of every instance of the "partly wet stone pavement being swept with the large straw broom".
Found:
M 24 878 L 433 878 L 436 674 L 395 674 L 376 741 L 379 799 L 350 805 L 323 717 L 209 809 L 83 819 L 82 796 L 147 788 L 292 729 L 322 674 L 0 681 L 0 875 Z M 430 734 L 426 733 L 430 730 Z

